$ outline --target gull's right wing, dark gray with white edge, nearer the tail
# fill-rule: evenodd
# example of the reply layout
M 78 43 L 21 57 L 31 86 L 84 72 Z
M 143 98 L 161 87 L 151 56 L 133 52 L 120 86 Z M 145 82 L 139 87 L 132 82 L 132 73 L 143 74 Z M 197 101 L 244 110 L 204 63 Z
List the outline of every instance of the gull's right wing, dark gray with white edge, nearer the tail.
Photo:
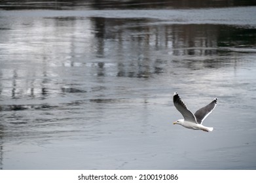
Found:
M 216 105 L 217 105 L 217 98 L 211 101 L 210 104 L 200 108 L 194 113 L 194 116 L 196 116 L 196 121 L 198 122 L 198 124 L 202 124 L 204 119 L 211 113 L 211 111 L 215 108 Z

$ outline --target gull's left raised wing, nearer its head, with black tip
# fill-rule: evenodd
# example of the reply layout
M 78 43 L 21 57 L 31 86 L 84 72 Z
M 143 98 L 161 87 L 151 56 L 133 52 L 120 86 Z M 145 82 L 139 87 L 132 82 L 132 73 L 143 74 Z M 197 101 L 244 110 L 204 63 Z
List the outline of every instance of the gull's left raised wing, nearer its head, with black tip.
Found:
M 185 121 L 197 123 L 196 117 L 189 109 L 187 109 L 187 106 L 183 103 L 177 92 L 174 93 L 174 106 L 181 112 Z

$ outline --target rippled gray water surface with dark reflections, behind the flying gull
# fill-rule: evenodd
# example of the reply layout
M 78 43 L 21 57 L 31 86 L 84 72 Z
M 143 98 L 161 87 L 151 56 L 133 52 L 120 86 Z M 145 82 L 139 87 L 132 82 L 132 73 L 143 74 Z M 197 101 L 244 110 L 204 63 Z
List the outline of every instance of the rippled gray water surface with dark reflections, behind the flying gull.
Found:
M 18 2 L 0 3 L 0 169 L 256 168 L 256 7 Z M 174 92 L 218 98 L 213 132 L 173 125 Z

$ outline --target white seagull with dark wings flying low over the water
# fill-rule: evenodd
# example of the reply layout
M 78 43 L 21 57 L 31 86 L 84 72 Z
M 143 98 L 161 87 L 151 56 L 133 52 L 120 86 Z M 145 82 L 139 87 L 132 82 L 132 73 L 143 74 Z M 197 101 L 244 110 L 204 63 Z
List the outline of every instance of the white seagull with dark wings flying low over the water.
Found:
M 194 114 L 187 108 L 185 103 L 181 100 L 178 93 L 174 93 L 174 106 L 181 112 L 184 119 L 177 120 L 174 124 L 183 125 L 189 129 L 199 129 L 202 131 L 213 131 L 213 127 L 206 127 L 202 125 L 202 122 L 213 111 L 217 105 L 217 98 L 213 99 L 210 104 L 200 108 Z

